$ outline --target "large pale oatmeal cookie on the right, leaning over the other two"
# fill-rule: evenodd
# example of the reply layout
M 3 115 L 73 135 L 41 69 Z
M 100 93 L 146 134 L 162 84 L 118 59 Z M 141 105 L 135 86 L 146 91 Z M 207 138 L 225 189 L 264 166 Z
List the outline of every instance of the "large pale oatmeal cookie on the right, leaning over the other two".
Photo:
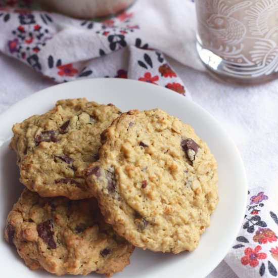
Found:
M 86 170 L 107 223 L 143 249 L 192 251 L 218 203 L 217 163 L 194 129 L 159 109 L 123 113 Z

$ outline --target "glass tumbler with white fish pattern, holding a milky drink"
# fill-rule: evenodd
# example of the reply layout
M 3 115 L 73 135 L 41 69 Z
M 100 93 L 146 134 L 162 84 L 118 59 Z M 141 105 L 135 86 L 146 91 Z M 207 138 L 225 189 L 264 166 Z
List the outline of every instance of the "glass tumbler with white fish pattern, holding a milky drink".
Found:
M 278 0 L 195 0 L 197 51 L 223 81 L 278 78 Z

